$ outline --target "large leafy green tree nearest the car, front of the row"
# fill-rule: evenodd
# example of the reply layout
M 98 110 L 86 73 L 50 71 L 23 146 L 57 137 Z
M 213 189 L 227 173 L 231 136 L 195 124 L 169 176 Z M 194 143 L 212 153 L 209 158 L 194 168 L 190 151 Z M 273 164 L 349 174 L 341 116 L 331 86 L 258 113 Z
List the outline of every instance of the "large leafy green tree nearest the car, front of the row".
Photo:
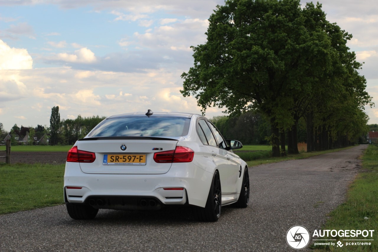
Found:
M 304 76 L 319 71 L 317 61 L 324 58 L 324 44 L 316 43 L 322 34 L 310 36 L 304 21 L 299 0 L 229 0 L 217 6 L 206 44 L 193 48 L 194 67 L 182 75 L 183 95 L 196 95 L 203 110 L 261 111 L 270 118 L 273 156 L 280 156 L 279 129 L 295 120 L 292 94 L 304 92 Z M 309 57 L 311 51 L 319 54 Z

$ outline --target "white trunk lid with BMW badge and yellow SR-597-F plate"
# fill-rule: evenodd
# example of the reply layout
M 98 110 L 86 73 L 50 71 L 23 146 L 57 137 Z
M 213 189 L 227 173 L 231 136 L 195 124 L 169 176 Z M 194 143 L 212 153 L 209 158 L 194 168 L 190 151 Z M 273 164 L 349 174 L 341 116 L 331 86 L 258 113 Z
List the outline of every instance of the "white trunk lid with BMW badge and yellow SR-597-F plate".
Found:
M 77 141 L 77 149 L 94 152 L 96 160 L 80 163 L 80 168 L 92 174 L 167 173 L 172 163 L 156 163 L 153 155 L 175 149 L 177 142 L 177 139 L 160 137 L 83 138 Z

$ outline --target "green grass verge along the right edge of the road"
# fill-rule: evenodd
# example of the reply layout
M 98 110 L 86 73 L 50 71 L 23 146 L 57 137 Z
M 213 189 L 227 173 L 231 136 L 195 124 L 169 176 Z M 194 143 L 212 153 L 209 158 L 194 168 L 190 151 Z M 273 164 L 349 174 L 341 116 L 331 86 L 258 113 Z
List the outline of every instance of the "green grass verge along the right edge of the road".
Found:
M 378 251 L 378 146 L 369 145 L 362 156 L 361 172 L 355 181 L 349 186 L 347 201 L 339 205 L 329 214 L 329 219 L 322 230 L 375 230 L 373 238 L 360 237 L 324 237 L 322 239 L 336 239 L 345 246 L 312 246 L 315 251 Z M 346 242 L 364 241 L 343 241 L 343 239 L 373 239 L 371 245 L 347 246 Z

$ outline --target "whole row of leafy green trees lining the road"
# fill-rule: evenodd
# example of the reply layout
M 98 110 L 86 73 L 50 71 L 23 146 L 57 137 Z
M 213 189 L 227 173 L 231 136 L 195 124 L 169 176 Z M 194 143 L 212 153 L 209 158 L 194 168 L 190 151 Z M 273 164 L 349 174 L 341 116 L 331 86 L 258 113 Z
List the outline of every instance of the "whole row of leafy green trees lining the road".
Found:
M 194 66 L 181 77 L 184 96 L 231 116 L 253 110 L 270 123 L 273 156 L 298 153 L 298 125 L 307 151 L 347 145 L 366 132 L 362 64 L 352 35 L 299 0 L 228 0 L 209 18 L 207 42 L 192 47 Z M 281 146 L 281 148 L 280 148 Z

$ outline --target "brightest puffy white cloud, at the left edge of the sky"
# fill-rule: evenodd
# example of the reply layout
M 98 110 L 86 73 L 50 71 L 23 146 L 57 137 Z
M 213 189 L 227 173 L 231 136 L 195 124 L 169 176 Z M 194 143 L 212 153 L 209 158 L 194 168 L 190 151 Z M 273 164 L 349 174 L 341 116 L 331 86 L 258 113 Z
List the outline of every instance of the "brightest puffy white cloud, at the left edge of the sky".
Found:
M 0 40 L 0 70 L 31 69 L 32 65 L 33 59 L 26 49 L 11 48 Z

